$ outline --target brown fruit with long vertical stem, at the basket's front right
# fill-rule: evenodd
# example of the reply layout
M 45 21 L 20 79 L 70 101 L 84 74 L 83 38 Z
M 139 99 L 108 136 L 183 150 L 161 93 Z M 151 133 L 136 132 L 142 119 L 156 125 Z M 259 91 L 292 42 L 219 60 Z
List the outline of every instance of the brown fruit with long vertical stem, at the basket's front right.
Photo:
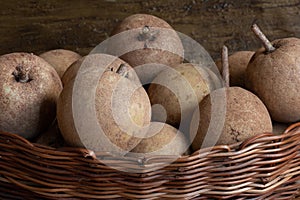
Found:
M 272 132 L 272 121 L 263 102 L 241 87 L 229 87 L 225 46 L 222 60 L 226 87 L 212 91 L 200 102 L 200 116 L 195 114 L 191 123 L 191 130 L 197 129 L 197 134 L 191 136 L 193 150 L 215 144 L 229 145 L 259 133 Z

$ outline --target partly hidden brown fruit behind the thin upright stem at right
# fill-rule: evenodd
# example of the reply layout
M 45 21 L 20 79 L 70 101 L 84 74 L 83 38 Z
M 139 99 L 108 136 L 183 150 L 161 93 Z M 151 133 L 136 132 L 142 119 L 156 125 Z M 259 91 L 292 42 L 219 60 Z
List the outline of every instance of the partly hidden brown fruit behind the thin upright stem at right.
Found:
M 228 57 L 230 86 L 245 87 L 245 73 L 247 65 L 253 56 L 254 51 L 237 51 Z M 222 70 L 222 62 L 216 62 L 218 69 Z

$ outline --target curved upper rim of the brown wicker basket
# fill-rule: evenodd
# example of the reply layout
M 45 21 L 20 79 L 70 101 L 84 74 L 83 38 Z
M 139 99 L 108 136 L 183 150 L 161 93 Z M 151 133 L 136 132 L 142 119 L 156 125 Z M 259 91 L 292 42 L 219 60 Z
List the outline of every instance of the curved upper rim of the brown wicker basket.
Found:
M 230 145 L 215 145 L 212 147 L 205 147 L 198 149 L 191 154 L 188 155 L 181 155 L 181 156 L 174 156 L 174 155 L 147 155 L 143 154 L 143 156 L 140 157 L 133 157 L 133 156 L 125 156 L 129 159 L 138 160 L 139 162 L 146 161 L 146 160 L 155 160 L 155 159 L 174 159 L 177 157 L 177 161 L 181 160 L 189 160 L 189 158 L 197 157 L 199 154 L 209 154 L 209 152 L 218 152 L 218 154 L 214 154 L 214 156 L 223 156 L 223 154 L 227 154 L 228 156 L 236 156 L 249 148 L 253 148 L 253 145 L 260 145 L 267 141 L 280 141 L 285 138 L 291 137 L 295 134 L 297 134 L 297 131 L 300 131 L 300 122 L 296 122 L 291 124 L 289 127 L 286 128 L 286 130 L 282 134 L 274 134 L 272 132 L 264 132 L 260 134 L 256 134 L 245 141 L 237 142 Z M 112 156 L 116 157 L 114 154 L 108 151 L 101 151 L 101 152 L 94 152 L 93 150 L 83 148 L 83 147 L 72 147 L 72 146 L 63 146 L 63 147 L 50 147 L 43 144 L 38 144 L 35 142 L 30 142 L 28 139 L 25 139 L 24 137 L 15 134 L 10 133 L 6 131 L 0 130 L 0 135 L 4 135 L 7 138 L 10 138 L 11 140 L 15 141 L 17 144 L 21 146 L 29 147 L 31 150 L 34 150 L 34 148 L 39 148 L 40 151 L 45 153 L 54 153 L 54 155 L 68 155 L 68 156 L 75 156 L 78 155 L 78 153 L 82 154 L 84 158 L 92 158 L 97 159 L 97 156 Z M 9 139 L 7 139 L 9 140 Z M 127 154 L 131 155 L 131 154 Z M 142 160 L 141 160 L 142 159 Z

